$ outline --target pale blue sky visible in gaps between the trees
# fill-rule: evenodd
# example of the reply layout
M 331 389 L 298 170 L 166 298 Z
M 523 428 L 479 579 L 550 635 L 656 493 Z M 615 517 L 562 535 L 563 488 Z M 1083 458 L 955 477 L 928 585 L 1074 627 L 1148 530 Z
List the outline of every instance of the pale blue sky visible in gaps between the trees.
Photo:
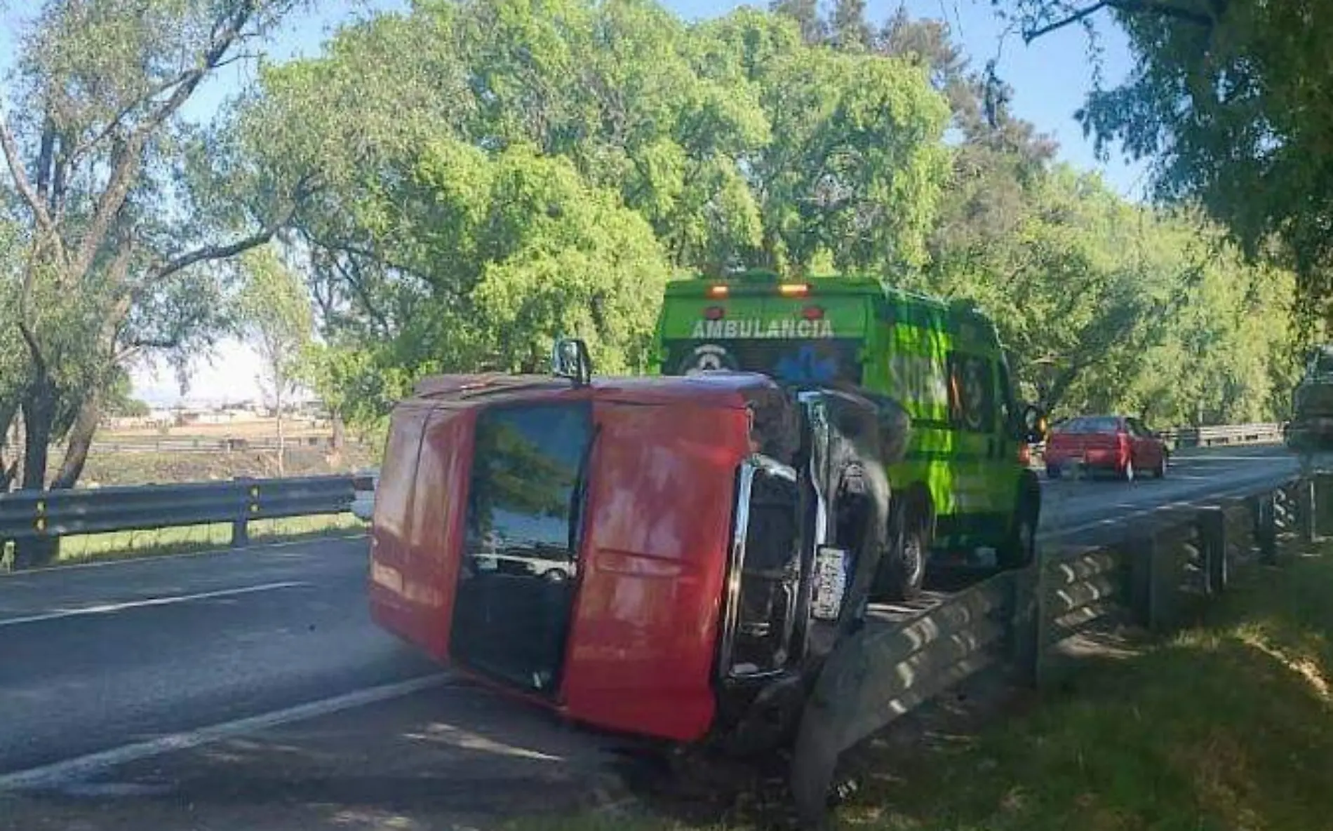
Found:
M 663 0 L 688 20 L 698 20 L 742 5 L 722 0 Z M 756 4 L 766 4 L 758 0 Z M 13 55 L 13 32 L 19 31 L 28 9 L 36 3 L 0 0 L 0 69 L 8 68 Z M 888 19 L 900 0 L 869 0 L 866 16 L 872 21 Z M 1016 33 L 1005 33 L 1005 24 L 992 11 L 989 0 L 902 0 L 912 17 L 946 20 L 953 36 L 981 69 L 997 59 L 998 75 L 1014 89 L 1014 113 L 1032 121 L 1037 129 L 1060 144 L 1060 157 L 1082 169 L 1101 170 L 1106 182 L 1130 198 L 1141 198 L 1146 176 L 1142 164 L 1132 164 L 1118 154 L 1108 162 L 1096 158 L 1092 141 L 1085 138 L 1073 113 L 1093 87 L 1093 64 L 1088 57 L 1084 33 L 1072 27 L 1048 35 L 1030 47 Z M 403 11 L 408 0 L 316 0 L 291 17 L 268 44 L 268 56 L 287 60 L 313 56 L 333 28 L 377 11 Z M 1109 20 L 1100 21 L 1102 36 L 1102 77 L 1114 85 L 1129 71 L 1129 52 L 1124 35 Z M 228 67 L 219 77 L 196 92 L 185 115 L 208 120 L 217 107 L 255 80 L 253 63 Z M 255 400 L 259 397 L 256 377 L 261 366 L 257 356 L 235 341 L 223 342 L 215 354 L 201 356 L 192 372 L 184 398 L 192 402 Z M 165 366 L 143 366 L 133 373 L 135 394 L 152 404 L 173 404 L 183 398 L 175 373 Z

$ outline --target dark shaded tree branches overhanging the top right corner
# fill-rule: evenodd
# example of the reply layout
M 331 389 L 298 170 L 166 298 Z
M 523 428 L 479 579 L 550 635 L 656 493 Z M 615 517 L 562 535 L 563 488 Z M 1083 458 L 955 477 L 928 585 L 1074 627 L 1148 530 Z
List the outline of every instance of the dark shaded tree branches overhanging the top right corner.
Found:
M 1134 68 L 1078 113 L 1105 152 L 1154 160 L 1158 197 L 1202 205 L 1253 260 L 1292 265 L 1306 313 L 1333 294 L 1328 3 L 992 0 L 1028 41 L 1105 11 Z

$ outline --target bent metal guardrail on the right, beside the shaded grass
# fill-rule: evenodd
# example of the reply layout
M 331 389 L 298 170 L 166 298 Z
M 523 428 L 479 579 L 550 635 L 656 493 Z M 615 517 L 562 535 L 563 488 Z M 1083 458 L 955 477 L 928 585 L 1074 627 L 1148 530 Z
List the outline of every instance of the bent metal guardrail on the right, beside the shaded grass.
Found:
M 1070 666 L 1060 646 L 1072 638 L 1166 631 L 1225 591 L 1234 569 L 1280 565 L 1282 543 L 1312 541 L 1330 509 L 1333 475 L 1294 479 L 1162 511 L 1116 545 L 1042 553 L 896 621 L 868 615 L 825 662 L 801 718 L 790 784 L 802 824 L 821 824 L 844 751 L 938 692 L 986 667 L 1046 686 Z

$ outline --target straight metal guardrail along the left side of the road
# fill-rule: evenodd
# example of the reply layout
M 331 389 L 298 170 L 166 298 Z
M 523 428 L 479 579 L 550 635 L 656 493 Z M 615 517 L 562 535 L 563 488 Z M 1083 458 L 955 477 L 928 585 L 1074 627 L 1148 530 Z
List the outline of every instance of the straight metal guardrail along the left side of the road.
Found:
M 352 510 L 356 490 L 367 482 L 368 477 L 328 475 L 20 490 L 0 495 L 0 542 L 229 522 L 232 545 L 243 546 L 251 521 L 341 514 Z

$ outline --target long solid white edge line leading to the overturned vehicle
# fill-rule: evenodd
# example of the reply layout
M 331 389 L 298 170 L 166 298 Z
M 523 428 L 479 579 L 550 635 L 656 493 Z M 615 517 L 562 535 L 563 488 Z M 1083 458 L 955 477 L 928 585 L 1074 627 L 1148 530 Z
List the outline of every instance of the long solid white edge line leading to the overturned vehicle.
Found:
M 275 710 L 272 712 L 252 715 L 233 722 L 211 724 L 208 727 L 200 727 L 199 730 L 175 732 L 147 742 L 123 744 L 120 747 L 112 747 L 111 750 L 75 756 L 73 759 L 43 764 L 41 767 L 31 767 L 12 774 L 3 774 L 0 775 L 0 791 L 49 788 L 61 783 L 88 778 L 93 774 L 117 767 L 120 764 L 137 762 L 139 759 L 160 756 L 179 750 L 189 750 L 191 747 L 199 747 L 200 744 L 265 730 L 268 727 L 277 727 L 291 722 L 300 722 L 320 715 L 328 715 L 340 710 L 349 710 L 352 707 L 372 704 L 375 702 L 401 698 L 412 692 L 437 687 L 448 681 L 453 681 L 453 678 L 455 677 L 449 673 L 424 675 L 397 683 L 368 687 L 355 692 L 345 692 L 343 695 L 335 695 L 333 698 L 287 707 L 285 710 Z

